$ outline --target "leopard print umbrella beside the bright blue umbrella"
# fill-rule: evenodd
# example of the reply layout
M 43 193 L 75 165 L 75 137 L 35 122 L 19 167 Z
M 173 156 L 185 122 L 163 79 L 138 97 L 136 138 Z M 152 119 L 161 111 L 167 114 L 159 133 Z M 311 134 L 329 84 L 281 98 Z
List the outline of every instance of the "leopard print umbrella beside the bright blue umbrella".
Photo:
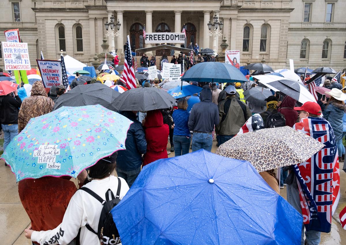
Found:
M 237 135 L 216 154 L 249 161 L 258 172 L 304 163 L 324 144 L 288 126 Z

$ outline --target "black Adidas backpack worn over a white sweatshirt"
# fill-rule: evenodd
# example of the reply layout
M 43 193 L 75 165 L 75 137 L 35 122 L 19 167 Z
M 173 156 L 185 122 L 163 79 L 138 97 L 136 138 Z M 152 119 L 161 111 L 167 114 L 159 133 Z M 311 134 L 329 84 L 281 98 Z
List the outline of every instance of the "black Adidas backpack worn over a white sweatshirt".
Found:
M 80 190 L 84 190 L 85 192 L 92 195 L 94 198 L 96 198 L 100 203 L 102 203 L 103 208 L 100 215 L 99 220 L 99 227 L 98 231 L 95 232 L 89 224 L 86 224 L 85 227 L 91 231 L 92 233 L 96 234 L 101 244 L 119 244 L 121 243 L 118 229 L 113 221 L 112 214 L 110 211 L 115 207 L 119 202 L 119 195 L 120 195 L 120 189 L 121 189 L 121 182 L 118 178 L 118 189 L 117 189 L 117 195 L 114 196 L 111 189 L 108 189 L 106 192 L 106 200 L 103 200 L 99 195 L 94 193 L 91 189 L 86 187 L 81 187 Z

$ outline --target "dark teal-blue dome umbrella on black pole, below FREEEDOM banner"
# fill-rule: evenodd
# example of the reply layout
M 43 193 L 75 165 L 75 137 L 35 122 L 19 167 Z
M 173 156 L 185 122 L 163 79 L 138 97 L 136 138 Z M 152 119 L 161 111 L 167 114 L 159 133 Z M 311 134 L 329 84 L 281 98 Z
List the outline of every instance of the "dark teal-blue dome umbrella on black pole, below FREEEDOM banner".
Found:
M 221 62 L 202 62 L 187 70 L 183 81 L 247 82 L 244 74 L 232 65 Z

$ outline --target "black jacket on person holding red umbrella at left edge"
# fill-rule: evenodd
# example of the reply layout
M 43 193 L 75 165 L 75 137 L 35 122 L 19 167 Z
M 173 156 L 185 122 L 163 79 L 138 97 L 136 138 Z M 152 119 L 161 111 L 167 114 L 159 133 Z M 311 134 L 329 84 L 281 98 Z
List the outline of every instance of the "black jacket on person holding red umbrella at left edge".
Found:
M 18 124 L 19 107 L 21 99 L 17 95 L 13 98 L 10 94 L 0 96 L 0 122 L 1 124 Z

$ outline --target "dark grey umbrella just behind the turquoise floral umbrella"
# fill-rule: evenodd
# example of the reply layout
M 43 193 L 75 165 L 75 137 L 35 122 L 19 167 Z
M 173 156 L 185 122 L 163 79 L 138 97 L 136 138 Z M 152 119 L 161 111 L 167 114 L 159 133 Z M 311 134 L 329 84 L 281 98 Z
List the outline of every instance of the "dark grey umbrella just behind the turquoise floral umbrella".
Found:
M 104 84 L 94 83 L 79 85 L 61 95 L 55 102 L 54 110 L 62 106 L 101 105 L 112 111 L 117 111 L 114 100 L 120 95 L 118 91 Z

